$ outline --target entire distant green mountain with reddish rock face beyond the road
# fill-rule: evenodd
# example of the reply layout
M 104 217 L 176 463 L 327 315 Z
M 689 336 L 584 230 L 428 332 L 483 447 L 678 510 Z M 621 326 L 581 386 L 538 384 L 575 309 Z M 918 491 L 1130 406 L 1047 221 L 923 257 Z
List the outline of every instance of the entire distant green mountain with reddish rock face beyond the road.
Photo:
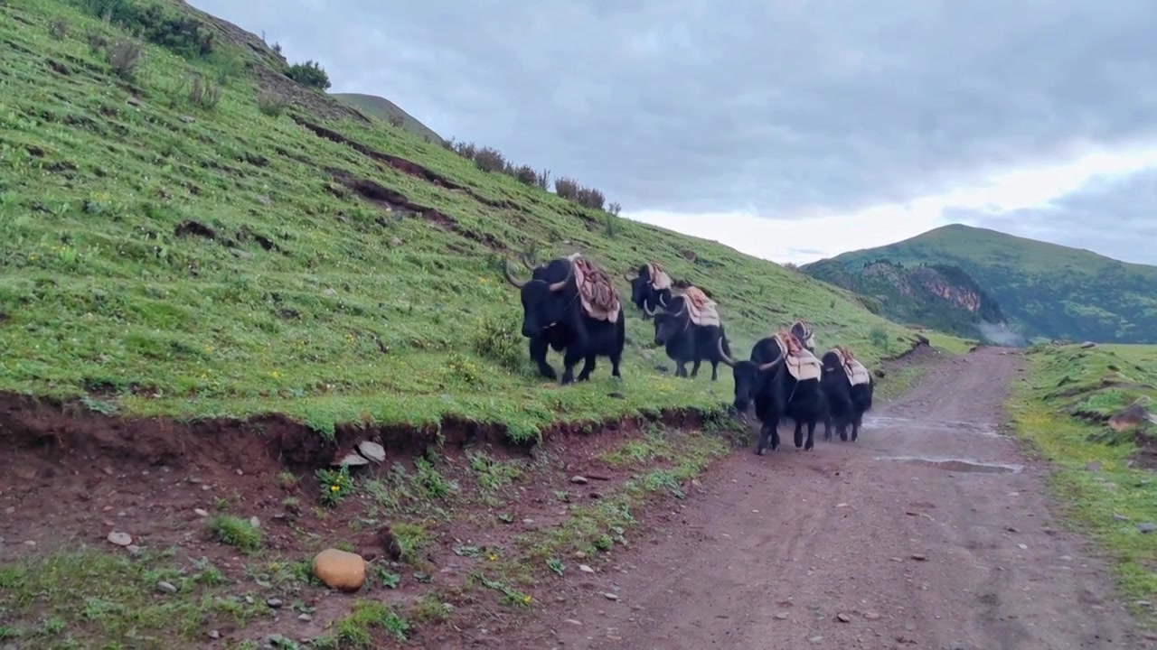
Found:
M 884 272 L 882 261 L 905 271 Z M 916 271 L 922 265 L 941 272 L 945 267 L 961 271 L 975 283 L 977 295 L 987 295 L 1009 324 L 1027 338 L 1157 342 L 1157 267 L 986 228 L 944 226 L 886 246 L 804 265 L 801 271 L 877 297 L 885 313 L 911 313 L 916 323 L 946 327 L 944 323 L 931 325 L 951 312 L 941 304 L 946 300 L 943 295 L 905 294 L 905 287 L 913 281 L 924 286 L 912 275 L 928 274 Z M 951 302 L 972 304 L 968 297 Z M 974 323 L 988 322 L 990 313 L 981 308 L 978 302 L 975 311 L 968 309 Z M 968 326 L 960 315 L 949 328 L 959 332 Z

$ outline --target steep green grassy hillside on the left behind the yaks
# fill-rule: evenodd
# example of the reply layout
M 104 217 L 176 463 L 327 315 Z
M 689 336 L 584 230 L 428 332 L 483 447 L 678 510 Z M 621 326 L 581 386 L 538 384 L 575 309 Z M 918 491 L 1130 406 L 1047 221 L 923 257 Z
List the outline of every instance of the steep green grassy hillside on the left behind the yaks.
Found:
M 820 346 L 848 345 L 869 364 L 913 338 L 847 291 L 576 207 L 405 130 L 326 125 L 469 192 L 318 138 L 288 113 L 261 111 L 264 90 L 245 65 L 267 58 L 226 40 L 209 57 L 146 45 L 127 82 L 90 46 L 91 35 L 123 39 L 115 27 L 62 0 L 0 14 L 0 390 L 87 396 L 120 415 L 277 412 L 324 436 L 345 422 L 456 415 L 518 440 L 559 421 L 729 399 L 728 372 L 716 384 L 657 372 L 670 363 L 632 306 L 621 383 L 606 361 L 584 385 L 540 379 L 519 335 L 517 293 L 495 249 L 476 239 L 540 258 L 584 251 L 624 293 L 621 274 L 657 259 L 715 294 L 737 356 L 796 317 L 816 324 Z M 64 36 L 50 28 L 60 22 Z M 220 84 L 213 108 L 183 90 L 194 75 Z M 332 99 L 318 93 L 317 102 Z M 327 170 L 374 179 L 456 224 L 386 212 Z M 186 221 L 216 238 L 175 236 Z

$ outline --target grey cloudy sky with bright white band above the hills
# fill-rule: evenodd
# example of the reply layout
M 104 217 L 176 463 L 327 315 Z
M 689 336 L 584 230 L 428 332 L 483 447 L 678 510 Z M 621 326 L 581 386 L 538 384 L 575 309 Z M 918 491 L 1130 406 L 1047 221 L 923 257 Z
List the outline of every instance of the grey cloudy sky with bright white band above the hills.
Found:
M 1152 0 L 190 3 L 760 257 L 964 222 L 1157 264 Z

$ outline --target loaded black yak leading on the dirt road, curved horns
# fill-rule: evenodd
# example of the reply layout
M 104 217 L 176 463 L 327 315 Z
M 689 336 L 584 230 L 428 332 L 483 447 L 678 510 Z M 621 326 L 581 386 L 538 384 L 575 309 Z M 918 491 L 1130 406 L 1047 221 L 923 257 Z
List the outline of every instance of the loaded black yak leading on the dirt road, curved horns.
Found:
M 734 361 L 718 349 L 721 361 L 731 367 L 735 378 L 734 406 L 740 413 L 756 404 L 756 418 L 761 422 L 756 453 L 762 456 L 771 446 L 780 446 L 780 420 L 795 421 L 795 445 L 816 446 L 816 424 L 825 415 L 820 390 L 819 360 L 809 353 L 790 332 L 779 332 L 760 339 L 751 350 L 751 361 Z M 806 441 L 803 427 L 808 427 Z

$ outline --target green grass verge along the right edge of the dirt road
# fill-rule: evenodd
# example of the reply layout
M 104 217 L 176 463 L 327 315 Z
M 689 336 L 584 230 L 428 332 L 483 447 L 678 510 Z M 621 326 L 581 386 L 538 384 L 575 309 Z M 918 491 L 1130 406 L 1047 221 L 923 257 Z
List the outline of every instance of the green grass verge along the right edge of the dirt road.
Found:
M 1053 488 L 1068 516 L 1110 552 L 1128 598 L 1157 600 L 1157 537 L 1137 530 L 1157 523 L 1157 482 L 1151 471 L 1130 466 L 1138 440 L 1157 443 L 1157 427 L 1133 434 L 1096 423 L 1137 399 L 1157 398 L 1157 346 L 1038 346 L 1029 359 L 1032 374 L 1015 385 L 1011 400 L 1019 435 L 1054 464 Z M 1090 463 L 1099 470 L 1090 471 Z M 1152 616 L 1151 607 L 1134 608 Z

